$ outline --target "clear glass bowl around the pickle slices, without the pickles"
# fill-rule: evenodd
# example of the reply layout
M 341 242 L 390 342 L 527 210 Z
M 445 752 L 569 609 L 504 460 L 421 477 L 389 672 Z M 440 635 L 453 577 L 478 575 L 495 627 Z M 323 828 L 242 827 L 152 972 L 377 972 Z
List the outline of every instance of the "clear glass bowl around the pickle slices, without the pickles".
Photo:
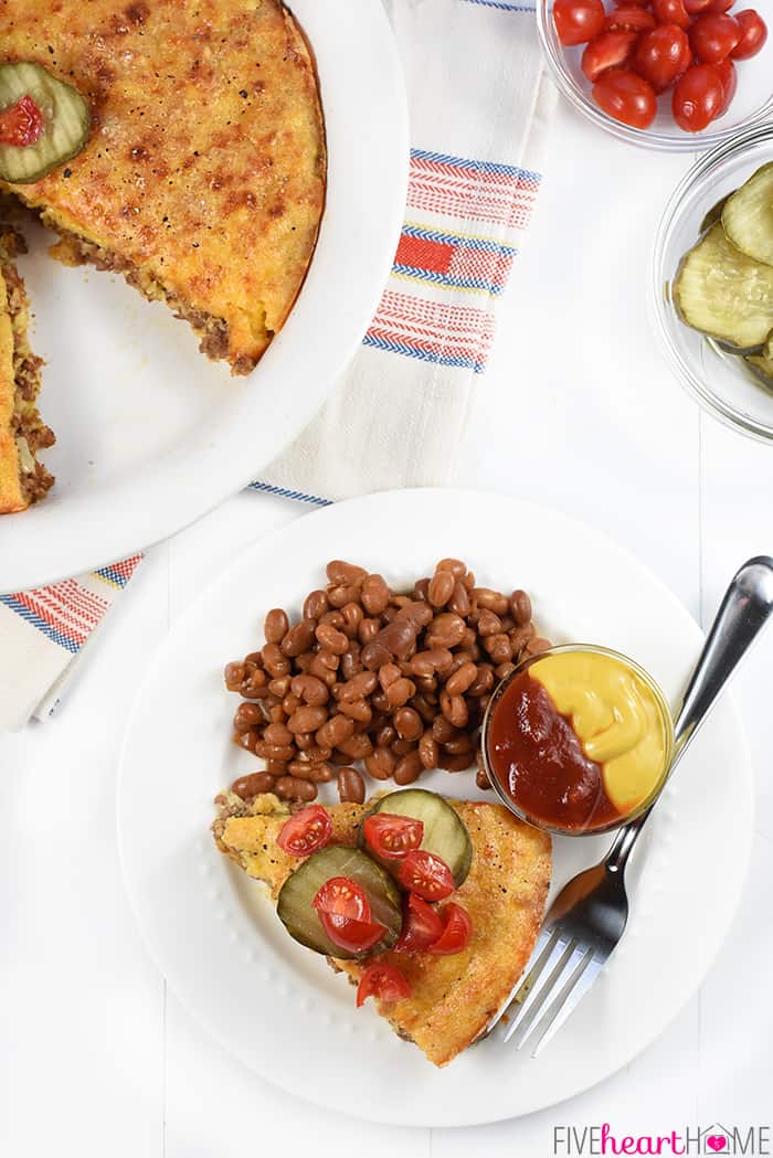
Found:
M 760 441 L 773 439 L 773 393 L 742 358 L 685 325 L 671 284 L 708 211 L 768 161 L 773 161 L 773 124 L 731 137 L 693 166 L 663 214 L 650 294 L 655 331 L 681 384 L 715 418 Z

